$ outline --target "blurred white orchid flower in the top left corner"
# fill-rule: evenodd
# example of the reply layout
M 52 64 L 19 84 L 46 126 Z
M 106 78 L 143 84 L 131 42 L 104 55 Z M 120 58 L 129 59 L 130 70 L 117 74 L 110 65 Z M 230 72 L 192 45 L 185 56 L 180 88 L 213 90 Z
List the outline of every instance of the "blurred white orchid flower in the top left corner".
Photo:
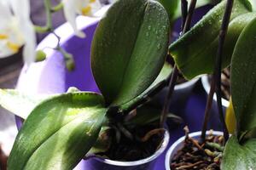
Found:
M 28 0 L 0 1 L 0 58 L 16 54 L 23 48 L 27 65 L 35 60 L 36 33 L 30 20 Z

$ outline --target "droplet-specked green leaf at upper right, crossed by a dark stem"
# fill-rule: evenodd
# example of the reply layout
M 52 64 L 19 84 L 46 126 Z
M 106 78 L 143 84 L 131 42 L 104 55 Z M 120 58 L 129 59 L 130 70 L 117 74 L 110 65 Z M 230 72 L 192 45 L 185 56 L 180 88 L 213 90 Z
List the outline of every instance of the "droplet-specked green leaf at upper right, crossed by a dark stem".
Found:
M 212 73 L 225 4 L 226 1 L 218 3 L 190 31 L 170 46 L 169 51 L 174 57 L 178 69 L 183 72 L 187 79 L 205 73 Z M 254 14 L 244 15 L 237 19 L 236 17 L 248 12 L 249 9 L 239 0 L 234 2 L 230 17 L 230 28 L 224 44 L 223 67 L 230 65 L 236 39 L 244 26 L 252 20 Z

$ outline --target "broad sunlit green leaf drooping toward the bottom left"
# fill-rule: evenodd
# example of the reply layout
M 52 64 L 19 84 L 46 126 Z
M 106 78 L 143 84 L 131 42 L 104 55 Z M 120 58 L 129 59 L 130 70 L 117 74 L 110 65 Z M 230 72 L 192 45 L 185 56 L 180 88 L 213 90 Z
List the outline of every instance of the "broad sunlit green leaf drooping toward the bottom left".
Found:
M 106 109 L 98 94 L 61 94 L 27 117 L 8 161 L 9 170 L 66 170 L 95 144 Z

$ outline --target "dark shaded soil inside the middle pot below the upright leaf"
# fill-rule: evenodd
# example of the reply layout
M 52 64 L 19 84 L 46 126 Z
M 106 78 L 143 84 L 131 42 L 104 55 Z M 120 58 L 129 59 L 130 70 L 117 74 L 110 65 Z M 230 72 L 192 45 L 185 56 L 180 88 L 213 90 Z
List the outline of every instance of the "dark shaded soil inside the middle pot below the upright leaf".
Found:
M 150 125 L 132 128 L 129 132 L 132 139 L 127 138 L 124 133 L 113 131 L 114 138 L 109 150 L 99 155 L 115 161 L 137 161 L 147 158 L 159 149 L 165 130 Z

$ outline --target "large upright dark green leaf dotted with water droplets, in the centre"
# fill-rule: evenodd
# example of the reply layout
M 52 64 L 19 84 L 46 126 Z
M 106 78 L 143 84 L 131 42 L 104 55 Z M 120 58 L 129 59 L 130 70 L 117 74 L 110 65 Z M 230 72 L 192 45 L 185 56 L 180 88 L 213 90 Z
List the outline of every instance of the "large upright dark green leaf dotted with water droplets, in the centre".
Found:
M 91 67 L 107 105 L 142 94 L 164 65 L 169 20 L 153 0 L 119 0 L 96 28 Z

